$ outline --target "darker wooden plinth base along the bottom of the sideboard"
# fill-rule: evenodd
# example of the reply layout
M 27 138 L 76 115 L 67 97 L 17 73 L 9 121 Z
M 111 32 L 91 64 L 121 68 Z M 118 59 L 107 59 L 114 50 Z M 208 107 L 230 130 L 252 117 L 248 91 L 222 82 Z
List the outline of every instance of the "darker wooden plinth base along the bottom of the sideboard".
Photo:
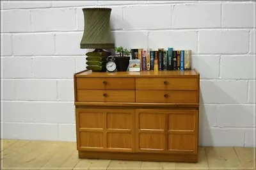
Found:
M 116 160 L 141 160 L 161 162 L 189 162 L 196 163 L 198 155 L 168 154 L 168 153 L 121 153 L 104 151 L 78 151 L 79 158 L 116 159 Z

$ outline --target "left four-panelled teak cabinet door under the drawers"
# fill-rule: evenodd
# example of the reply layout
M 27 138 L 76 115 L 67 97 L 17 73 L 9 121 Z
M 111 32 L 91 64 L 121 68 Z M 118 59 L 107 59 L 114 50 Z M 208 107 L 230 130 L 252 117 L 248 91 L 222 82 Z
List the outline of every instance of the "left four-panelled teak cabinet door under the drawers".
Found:
M 77 149 L 134 151 L 132 109 L 76 109 Z

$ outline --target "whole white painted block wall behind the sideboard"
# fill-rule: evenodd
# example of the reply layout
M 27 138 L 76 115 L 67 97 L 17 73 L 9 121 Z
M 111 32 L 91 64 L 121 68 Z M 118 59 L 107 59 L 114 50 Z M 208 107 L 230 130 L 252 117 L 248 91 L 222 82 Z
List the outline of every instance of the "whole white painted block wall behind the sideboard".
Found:
M 192 50 L 200 145 L 255 144 L 253 1 L 1 1 L 1 137 L 76 141 L 73 75 L 93 50 L 80 49 L 87 7 L 112 8 L 116 46 Z

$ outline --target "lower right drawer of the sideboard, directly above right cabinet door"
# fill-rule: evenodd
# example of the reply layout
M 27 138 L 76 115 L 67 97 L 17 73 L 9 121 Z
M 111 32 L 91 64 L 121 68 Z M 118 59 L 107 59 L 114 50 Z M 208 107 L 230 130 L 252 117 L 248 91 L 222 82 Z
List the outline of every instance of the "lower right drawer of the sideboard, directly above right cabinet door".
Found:
M 136 90 L 138 103 L 182 103 L 196 104 L 197 91 Z

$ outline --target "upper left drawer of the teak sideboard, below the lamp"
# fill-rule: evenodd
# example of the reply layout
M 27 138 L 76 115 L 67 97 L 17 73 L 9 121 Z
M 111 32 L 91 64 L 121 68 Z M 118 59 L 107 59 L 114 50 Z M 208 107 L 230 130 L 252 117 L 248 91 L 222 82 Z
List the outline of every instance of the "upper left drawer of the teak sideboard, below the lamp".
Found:
M 134 78 L 77 78 L 77 89 L 135 89 Z

